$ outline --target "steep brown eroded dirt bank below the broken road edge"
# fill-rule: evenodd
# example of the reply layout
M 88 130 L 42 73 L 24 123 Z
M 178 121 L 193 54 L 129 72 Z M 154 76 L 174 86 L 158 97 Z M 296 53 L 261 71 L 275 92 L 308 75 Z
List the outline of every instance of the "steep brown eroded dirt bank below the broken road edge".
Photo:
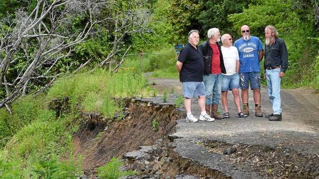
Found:
M 85 114 L 87 121 L 73 142 L 75 155 L 83 157 L 85 175 L 94 173 L 112 157 L 122 157 L 139 146 L 152 145 L 155 140 L 167 137 L 174 132 L 176 120 L 182 117 L 174 105 L 140 100 L 129 101 L 124 113 L 123 120 L 110 124 L 100 115 Z

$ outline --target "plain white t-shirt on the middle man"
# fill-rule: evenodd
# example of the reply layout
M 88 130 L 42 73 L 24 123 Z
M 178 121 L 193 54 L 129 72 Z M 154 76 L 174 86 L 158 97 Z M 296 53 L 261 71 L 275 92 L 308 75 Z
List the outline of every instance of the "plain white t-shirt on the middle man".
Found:
M 221 46 L 221 52 L 223 54 L 224 65 L 226 68 L 226 74 L 233 75 L 236 73 L 236 60 L 239 60 L 238 50 L 235 46 L 224 47 Z

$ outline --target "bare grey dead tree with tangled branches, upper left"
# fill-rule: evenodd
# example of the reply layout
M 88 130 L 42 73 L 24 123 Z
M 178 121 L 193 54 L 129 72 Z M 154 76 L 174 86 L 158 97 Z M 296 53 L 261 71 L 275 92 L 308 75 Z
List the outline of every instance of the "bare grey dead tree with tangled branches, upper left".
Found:
M 35 92 L 50 87 L 60 75 L 55 72 L 56 64 L 71 55 L 74 45 L 83 43 L 89 36 L 99 33 L 99 25 L 114 25 L 112 32 L 114 40 L 111 42 L 113 47 L 106 59 L 92 71 L 108 64 L 108 61 L 121 51 L 124 45 L 123 38 L 126 35 L 145 30 L 146 18 L 141 8 L 143 0 L 131 0 L 129 5 L 132 7 L 127 10 L 101 17 L 101 11 L 112 8 L 114 2 L 114 0 L 38 0 L 31 13 L 27 14 L 23 9 L 19 9 L 13 20 L 10 17 L 2 20 L 0 87 L 5 89 L 6 95 L 0 100 L 0 108 L 6 107 L 9 111 L 8 104 L 27 94 L 27 89 L 35 83 L 40 84 L 40 89 Z M 84 17 L 86 23 L 78 30 L 71 30 L 73 20 L 79 16 Z M 88 62 L 81 64 L 79 68 Z M 114 70 L 117 70 L 122 62 L 123 59 L 118 62 Z M 16 78 L 8 81 L 6 76 L 17 65 L 20 66 L 20 70 Z

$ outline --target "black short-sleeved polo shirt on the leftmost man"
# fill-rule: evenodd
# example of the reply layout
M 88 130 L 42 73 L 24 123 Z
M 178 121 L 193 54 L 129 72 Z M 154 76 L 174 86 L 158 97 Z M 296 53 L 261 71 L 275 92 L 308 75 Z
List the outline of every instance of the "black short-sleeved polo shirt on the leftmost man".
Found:
M 181 50 L 178 61 L 183 63 L 180 72 L 181 82 L 202 82 L 204 73 L 204 57 L 198 46 L 195 49 L 192 45 L 187 45 Z

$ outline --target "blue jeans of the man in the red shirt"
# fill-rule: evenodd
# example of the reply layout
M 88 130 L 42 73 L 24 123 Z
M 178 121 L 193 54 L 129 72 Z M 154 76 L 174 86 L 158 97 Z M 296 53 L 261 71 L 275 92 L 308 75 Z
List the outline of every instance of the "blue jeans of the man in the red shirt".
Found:
M 221 90 L 221 74 L 204 75 L 204 84 L 206 89 L 206 105 L 219 104 Z

